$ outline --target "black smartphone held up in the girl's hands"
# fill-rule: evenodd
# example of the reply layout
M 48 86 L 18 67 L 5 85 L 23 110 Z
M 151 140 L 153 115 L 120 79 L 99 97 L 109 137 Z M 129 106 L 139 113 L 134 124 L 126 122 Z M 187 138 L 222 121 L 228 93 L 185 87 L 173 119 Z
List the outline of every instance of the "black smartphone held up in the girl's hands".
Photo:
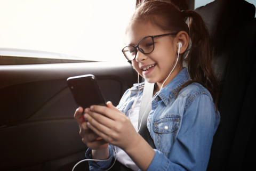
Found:
M 67 83 L 78 107 L 90 108 L 91 105 L 106 105 L 105 98 L 92 74 L 69 77 Z M 83 113 L 84 115 L 84 113 Z M 83 117 L 82 115 L 82 117 Z M 84 117 L 83 120 L 85 121 Z

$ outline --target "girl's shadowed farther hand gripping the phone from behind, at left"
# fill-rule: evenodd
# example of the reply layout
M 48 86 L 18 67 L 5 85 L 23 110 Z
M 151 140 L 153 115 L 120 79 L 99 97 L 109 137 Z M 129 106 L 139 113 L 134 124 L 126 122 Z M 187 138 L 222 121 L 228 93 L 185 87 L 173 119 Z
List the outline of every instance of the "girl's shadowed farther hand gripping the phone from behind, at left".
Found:
M 83 108 L 79 107 L 76 109 L 74 118 L 79 125 L 79 134 L 82 136 L 83 143 L 85 143 L 87 147 L 92 150 L 108 148 L 108 143 L 105 140 L 102 140 L 99 135 L 95 134 L 89 127 L 87 127 L 87 122 L 83 121 L 82 112 Z

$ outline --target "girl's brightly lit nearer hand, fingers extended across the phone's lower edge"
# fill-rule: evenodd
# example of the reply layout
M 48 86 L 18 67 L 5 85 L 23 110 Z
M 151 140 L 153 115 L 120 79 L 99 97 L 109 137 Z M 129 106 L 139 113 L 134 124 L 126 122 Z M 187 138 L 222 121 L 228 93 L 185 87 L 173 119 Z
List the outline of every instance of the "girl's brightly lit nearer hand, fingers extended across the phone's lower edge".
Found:
M 135 131 L 131 121 L 111 102 L 107 107 L 92 105 L 90 110 L 85 110 L 87 126 L 92 131 L 119 148 L 132 148 L 140 140 L 140 135 Z

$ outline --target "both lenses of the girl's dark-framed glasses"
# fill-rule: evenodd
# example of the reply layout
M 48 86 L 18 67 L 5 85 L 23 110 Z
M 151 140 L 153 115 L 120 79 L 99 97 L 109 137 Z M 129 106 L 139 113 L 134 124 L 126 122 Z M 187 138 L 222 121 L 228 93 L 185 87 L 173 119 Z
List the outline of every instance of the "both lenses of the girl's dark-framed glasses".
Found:
M 153 38 L 151 37 L 143 38 L 140 41 L 138 48 L 142 53 L 151 53 L 154 50 Z M 130 61 L 134 60 L 136 56 L 136 51 L 133 46 L 126 46 L 123 49 L 123 53 L 126 56 L 127 60 L 130 60 Z

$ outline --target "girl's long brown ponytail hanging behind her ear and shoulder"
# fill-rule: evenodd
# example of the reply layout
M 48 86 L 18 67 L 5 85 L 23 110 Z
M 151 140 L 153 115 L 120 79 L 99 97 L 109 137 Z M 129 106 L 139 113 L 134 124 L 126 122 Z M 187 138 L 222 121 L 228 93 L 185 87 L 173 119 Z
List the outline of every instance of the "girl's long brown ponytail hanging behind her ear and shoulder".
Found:
M 201 15 L 195 11 L 186 11 L 186 14 L 191 46 L 184 60 L 187 62 L 191 80 L 183 84 L 180 89 L 195 82 L 203 85 L 211 93 L 217 111 L 219 83 L 212 68 L 213 53 L 210 34 Z

